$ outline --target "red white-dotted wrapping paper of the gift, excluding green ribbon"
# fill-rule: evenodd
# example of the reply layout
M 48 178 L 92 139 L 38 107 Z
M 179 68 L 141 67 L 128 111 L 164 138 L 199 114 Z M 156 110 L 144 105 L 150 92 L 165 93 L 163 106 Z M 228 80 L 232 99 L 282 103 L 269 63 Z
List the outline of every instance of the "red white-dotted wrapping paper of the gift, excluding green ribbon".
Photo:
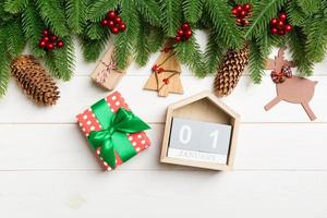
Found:
M 108 95 L 105 100 L 108 102 L 108 107 L 112 112 L 117 112 L 120 108 L 124 108 L 126 110 L 130 110 L 128 104 L 125 102 L 124 98 L 121 96 L 119 92 L 113 92 L 110 95 Z M 92 131 L 100 131 L 101 126 L 92 111 L 92 108 L 88 108 L 84 110 L 84 112 L 76 116 L 77 122 L 80 124 L 81 130 L 85 134 L 86 137 L 88 137 L 89 133 Z M 138 133 L 126 133 L 126 137 L 129 138 L 131 145 L 135 149 L 135 152 L 138 154 L 142 150 L 146 149 L 150 145 L 150 141 L 147 137 L 145 132 L 138 132 Z M 97 155 L 99 162 L 106 170 L 111 170 L 111 167 L 104 161 L 104 159 L 99 156 L 100 154 L 100 147 L 95 150 L 95 154 Z M 123 161 L 119 157 L 119 155 L 116 153 L 116 165 L 117 167 L 122 165 Z

